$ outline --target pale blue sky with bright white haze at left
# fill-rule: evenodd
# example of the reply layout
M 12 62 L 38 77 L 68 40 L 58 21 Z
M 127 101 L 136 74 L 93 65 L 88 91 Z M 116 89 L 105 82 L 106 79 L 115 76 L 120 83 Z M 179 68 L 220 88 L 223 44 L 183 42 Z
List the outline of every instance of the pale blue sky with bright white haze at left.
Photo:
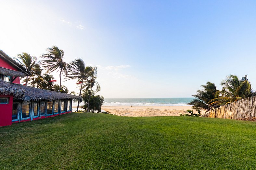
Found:
M 97 66 L 105 98 L 191 97 L 230 74 L 256 89 L 256 1 L 0 3 L 1 50 L 39 57 L 56 45 L 66 62 Z

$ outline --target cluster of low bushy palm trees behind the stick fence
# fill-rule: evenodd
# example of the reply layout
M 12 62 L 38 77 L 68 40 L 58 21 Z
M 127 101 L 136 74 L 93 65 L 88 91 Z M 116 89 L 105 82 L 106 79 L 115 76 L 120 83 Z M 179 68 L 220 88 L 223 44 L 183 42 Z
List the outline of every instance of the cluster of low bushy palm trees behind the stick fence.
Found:
M 201 85 L 203 90 L 198 90 L 197 94 L 193 95 L 196 99 L 193 99 L 189 104 L 194 109 L 205 109 L 209 111 L 228 103 L 256 95 L 256 92 L 251 88 L 247 75 L 240 80 L 236 75 L 229 75 L 226 80 L 221 82 L 221 85 L 222 90 L 217 90 L 215 84 L 211 82 Z

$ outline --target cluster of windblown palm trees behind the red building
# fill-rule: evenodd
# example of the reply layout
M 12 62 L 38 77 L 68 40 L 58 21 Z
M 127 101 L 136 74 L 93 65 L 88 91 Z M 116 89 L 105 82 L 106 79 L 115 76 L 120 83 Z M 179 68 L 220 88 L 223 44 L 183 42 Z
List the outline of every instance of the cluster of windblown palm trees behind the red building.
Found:
M 81 92 L 83 90 L 83 96 L 86 96 L 88 93 L 88 99 L 84 100 L 85 105 L 87 106 L 87 112 L 90 110 L 99 110 L 98 106 L 102 105 L 101 101 L 104 100 L 103 96 L 99 96 L 100 100 L 97 100 L 99 103 L 95 104 L 96 107 L 90 104 L 90 101 L 94 103 L 94 100 L 91 99 L 91 96 L 94 97 L 94 94 L 100 91 L 100 86 L 97 79 L 97 67 L 85 66 L 85 63 L 82 59 L 75 59 L 70 63 L 64 61 L 64 51 L 60 50 L 57 46 L 53 46 L 51 48 L 47 48 L 47 53 L 42 54 L 40 57 L 44 60 L 38 61 L 36 57 L 30 56 L 28 53 L 23 52 L 22 54 L 18 54 L 17 62 L 23 65 L 29 72 L 31 72 L 30 76 L 26 76 L 25 80 L 22 83 L 25 85 L 31 85 L 33 87 L 42 88 L 46 90 L 59 91 L 61 93 L 69 93 L 67 87 L 65 85 L 61 85 L 61 75 L 65 75 L 65 81 L 67 80 L 76 80 L 76 84 L 80 86 L 79 96 L 81 96 Z M 41 66 L 46 70 L 46 73 L 42 73 Z M 52 72 L 59 72 L 59 80 L 60 84 L 54 84 L 54 77 L 51 75 Z M 95 91 L 93 91 L 95 88 Z M 74 91 L 69 94 L 75 94 Z M 84 98 L 84 97 L 83 97 Z M 85 99 L 85 98 L 84 98 Z M 77 111 L 79 108 L 79 103 L 77 105 Z M 85 106 L 84 105 L 84 106 Z M 83 108 L 84 108 L 83 106 Z M 97 109 L 95 109 L 97 108 Z

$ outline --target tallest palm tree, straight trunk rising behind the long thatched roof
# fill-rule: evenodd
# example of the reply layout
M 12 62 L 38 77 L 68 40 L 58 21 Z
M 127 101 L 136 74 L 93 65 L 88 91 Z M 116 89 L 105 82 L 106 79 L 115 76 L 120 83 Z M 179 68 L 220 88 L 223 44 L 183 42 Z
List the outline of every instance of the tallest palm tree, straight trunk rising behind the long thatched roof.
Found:
M 47 48 L 48 53 L 42 54 L 41 57 L 47 60 L 42 61 L 42 65 L 47 69 L 47 73 L 52 73 L 57 70 L 59 72 L 59 91 L 61 88 L 61 74 L 62 71 L 65 74 L 68 74 L 67 67 L 68 63 L 63 60 L 64 52 L 63 50 L 58 49 L 57 46 L 53 46 L 52 48 Z

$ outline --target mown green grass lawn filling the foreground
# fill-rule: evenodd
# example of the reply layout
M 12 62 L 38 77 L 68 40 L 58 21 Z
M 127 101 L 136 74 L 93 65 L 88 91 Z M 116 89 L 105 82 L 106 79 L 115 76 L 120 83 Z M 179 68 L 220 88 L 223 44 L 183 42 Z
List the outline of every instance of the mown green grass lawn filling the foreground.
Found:
M 0 169 L 256 169 L 256 123 L 71 113 L 0 127 Z

